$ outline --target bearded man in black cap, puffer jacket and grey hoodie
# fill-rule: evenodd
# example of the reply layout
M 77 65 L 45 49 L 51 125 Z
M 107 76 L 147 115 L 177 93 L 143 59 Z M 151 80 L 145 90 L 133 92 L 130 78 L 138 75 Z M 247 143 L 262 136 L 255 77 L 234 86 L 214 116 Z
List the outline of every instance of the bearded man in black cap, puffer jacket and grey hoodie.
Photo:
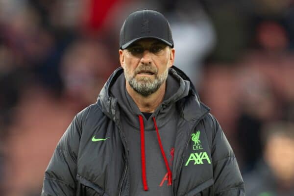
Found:
M 165 17 L 130 14 L 119 54 L 122 68 L 59 141 L 42 196 L 244 196 L 219 123 L 172 66 Z

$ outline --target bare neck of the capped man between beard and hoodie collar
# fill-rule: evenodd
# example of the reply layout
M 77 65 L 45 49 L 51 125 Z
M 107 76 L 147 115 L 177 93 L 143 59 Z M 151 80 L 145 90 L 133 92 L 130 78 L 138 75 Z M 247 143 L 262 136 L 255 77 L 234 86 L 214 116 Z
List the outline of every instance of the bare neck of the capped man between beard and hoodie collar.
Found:
M 166 82 L 164 82 L 155 93 L 147 97 L 144 97 L 141 94 L 138 94 L 128 84 L 128 82 L 126 82 L 126 91 L 131 96 L 131 98 L 133 98 L 133 100 L 135 101 L 135 103 L 137 104 L 141 112 L 148 112 L 148 113 L 154 112 L 155 109 L 163 101 L 165 90 L 166 90 Z

